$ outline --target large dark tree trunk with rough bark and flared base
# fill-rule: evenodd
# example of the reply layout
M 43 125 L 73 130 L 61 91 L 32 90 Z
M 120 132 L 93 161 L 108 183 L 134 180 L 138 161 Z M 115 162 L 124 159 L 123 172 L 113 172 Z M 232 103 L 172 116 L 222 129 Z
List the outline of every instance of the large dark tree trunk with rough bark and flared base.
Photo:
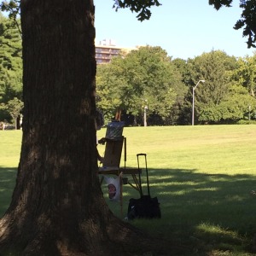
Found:
M 0 254 L 125 255 L 141 234 L 108 210 L 96 175 L 93 1 L 21 0 L 21 23 L 23 137 Z

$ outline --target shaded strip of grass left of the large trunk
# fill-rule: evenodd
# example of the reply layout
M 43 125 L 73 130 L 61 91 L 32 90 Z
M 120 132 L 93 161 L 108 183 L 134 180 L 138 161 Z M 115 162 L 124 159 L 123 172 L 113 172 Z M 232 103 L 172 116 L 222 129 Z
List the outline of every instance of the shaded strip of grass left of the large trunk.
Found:
M 0 167 L 0 218 L 9 207 L 15 189 L 17 168 Z

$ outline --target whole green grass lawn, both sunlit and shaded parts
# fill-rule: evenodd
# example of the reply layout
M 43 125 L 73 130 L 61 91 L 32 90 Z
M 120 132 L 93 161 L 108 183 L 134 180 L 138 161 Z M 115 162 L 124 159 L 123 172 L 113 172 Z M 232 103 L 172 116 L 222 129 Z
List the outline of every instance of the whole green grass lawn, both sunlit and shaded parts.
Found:
M 137 166 L 137 153 L 148 155 L 151 195 L 162 212 L 161 219 L 131 224 L 187 247 L 188 255 L 256 255 L 250 253 L 256 233 L 256 125 L 125 127 L 124 135 L 127 166 Z M 20 131 L 0 131 L 0 216 L 15 186 L 20 141 Z M 98 149 L 103 153 L 102 145 Z M 138 198 L 125 185 L 120 216 L 104 184 L 102 190 L 120 218 L 129 199 Z

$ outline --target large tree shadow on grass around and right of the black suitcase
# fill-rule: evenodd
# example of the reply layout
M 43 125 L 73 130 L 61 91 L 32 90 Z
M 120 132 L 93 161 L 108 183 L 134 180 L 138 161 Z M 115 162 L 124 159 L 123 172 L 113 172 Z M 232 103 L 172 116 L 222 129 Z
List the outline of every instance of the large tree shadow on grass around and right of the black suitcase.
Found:
M 256 176 L 195 171 L 150 169 L 150 192 L 160 201 L 162 218 L 131 223 L 188 246 L 191 254 L 211 255 L 216 251 L 250 255 L 250 243 L 256 233 L 256 195 L 251 193 L 256 190 Z M 145 184 L 143 177 L 147 191 Z M 129 199 L 139 197 L 133 190 L 124 187 L 124 213 Z M 119 216 L 119 207 L 108 204 Z

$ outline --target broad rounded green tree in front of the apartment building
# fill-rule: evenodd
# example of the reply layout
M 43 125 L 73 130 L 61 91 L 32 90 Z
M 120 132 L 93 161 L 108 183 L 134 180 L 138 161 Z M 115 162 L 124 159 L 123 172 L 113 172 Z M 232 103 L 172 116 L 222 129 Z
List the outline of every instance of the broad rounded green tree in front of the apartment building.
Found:
M 148 114 L 170 116 L 172 106 L 185 87 L 177 67 L 160 47 L 141 47 L 100 66 L 96 76 L 98 105 L 113 111 L 122 108 L 136 117 Z

